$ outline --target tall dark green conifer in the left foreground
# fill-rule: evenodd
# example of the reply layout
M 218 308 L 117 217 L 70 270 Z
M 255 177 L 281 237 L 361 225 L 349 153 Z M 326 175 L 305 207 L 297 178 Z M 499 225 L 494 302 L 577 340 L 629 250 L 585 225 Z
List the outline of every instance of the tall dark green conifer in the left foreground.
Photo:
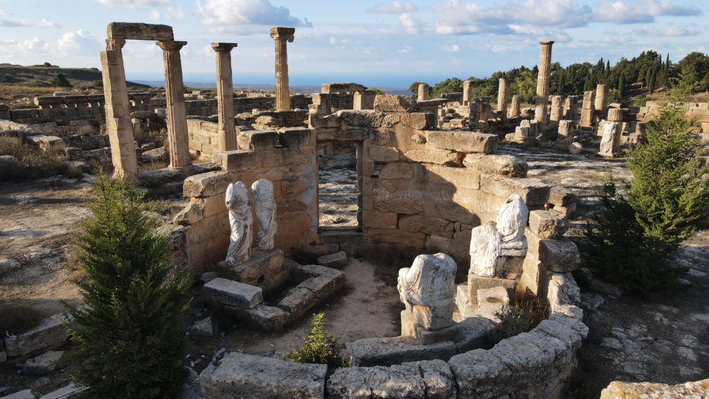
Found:
M 69 374 L 83 398 L 176 398 L 186 372 L 184 322 L 189 276 L 167 263 L 170 242 L 155 234 L 142 195 L 102 172 L 77 236 L 78 282 L 86 307 L 67 305 L 79 343 Z

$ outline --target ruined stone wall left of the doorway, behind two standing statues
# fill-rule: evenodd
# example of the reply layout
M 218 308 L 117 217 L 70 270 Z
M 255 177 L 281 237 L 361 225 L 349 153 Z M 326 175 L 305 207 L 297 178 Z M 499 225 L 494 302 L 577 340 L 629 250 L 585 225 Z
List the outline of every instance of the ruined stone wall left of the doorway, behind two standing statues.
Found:
M 184 181 L 184 197 L 190 204 L 177 219 L 179 224 L 189 226 L 185 246 L 194 273 L 214 270 L 216 263 L 225 258 L 229 220 L 224 196 L 229 183 L 239 180 L 248 187 L 262 178 L 273 182 L 277 247 L 300 248 L 317 238 L 317 165 L 311 131 L 285 128 L 278 132 L 242 132 L 239 146 L 249 149 L 214 155 L 214 163 L 221 171 L 194 175 Z

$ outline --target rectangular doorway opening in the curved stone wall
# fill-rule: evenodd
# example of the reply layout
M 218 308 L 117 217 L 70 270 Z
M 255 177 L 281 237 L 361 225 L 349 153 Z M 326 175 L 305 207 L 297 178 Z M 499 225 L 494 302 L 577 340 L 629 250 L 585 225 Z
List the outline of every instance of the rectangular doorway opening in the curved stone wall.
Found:
M 362 143 L 318 143 L 320 230 L 362 228 Z

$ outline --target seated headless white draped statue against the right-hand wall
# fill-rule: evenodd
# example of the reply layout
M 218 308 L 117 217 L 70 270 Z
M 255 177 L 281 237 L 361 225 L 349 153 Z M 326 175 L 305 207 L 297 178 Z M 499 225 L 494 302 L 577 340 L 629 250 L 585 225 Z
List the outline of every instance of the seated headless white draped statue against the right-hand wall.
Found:
M 469 273 L 495 277 L 503 256 L 520 256 L 526 250 L 524 238 L 529 212 L 518 194 L 510 195 L 495 222 L 477 226 L 470 238 Z

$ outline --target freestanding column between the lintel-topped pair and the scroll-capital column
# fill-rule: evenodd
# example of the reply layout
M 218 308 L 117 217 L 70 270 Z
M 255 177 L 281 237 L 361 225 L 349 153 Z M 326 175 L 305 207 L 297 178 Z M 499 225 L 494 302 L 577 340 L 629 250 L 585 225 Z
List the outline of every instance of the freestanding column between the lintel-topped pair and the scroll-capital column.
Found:
M 234 126 L 234 82 L 231 76 L 231 50 L 236 45 L 236 43 L 212 43 L 217 59 L 219 151 L 233 151 L 238 148 Z

